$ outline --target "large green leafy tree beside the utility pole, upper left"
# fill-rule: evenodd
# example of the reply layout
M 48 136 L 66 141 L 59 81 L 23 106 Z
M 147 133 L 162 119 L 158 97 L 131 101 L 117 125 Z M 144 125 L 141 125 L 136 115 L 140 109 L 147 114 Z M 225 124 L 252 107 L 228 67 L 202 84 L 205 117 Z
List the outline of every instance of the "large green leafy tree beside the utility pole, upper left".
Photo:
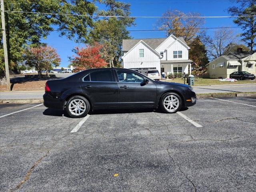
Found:
M 84 16 L 65 14 L 90 14 L 96 11 L 94 3 L 87 0 L 5 0 L 6 11 L 50 12 L 53 14 L 32 14 L 5 12 L 8 56 L 11 70 L 22 62 L 26 45 L 40 46 L 40 40 L 46 38 L 53 30 L 61 30 L 60 36 L 66 36 L 76 42 L 88 42 L 88 30 L 93 26 L 93 19 Z M 0 34 L 2 39 L 2 33 Z M 3 52 L 0 44 L 0 63 Z

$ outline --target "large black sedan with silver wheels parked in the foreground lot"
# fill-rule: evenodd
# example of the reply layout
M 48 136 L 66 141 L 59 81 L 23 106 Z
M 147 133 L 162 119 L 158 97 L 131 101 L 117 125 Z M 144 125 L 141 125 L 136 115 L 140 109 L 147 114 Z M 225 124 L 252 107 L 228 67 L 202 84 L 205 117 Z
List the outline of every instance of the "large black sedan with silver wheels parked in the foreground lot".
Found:
M 174 113 L 196 104 L 192 87 L 158 82 L 124 68 L 89 69 L 45 85 L 44 106 L 66 110 L 74 118 L 90 109 L 162 108 Z

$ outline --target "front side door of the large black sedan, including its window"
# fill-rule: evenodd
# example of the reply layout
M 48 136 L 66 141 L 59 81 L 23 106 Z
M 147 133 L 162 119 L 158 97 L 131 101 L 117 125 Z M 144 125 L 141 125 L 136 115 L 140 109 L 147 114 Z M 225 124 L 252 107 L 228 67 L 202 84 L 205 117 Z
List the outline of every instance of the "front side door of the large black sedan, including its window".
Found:
M 156 85 L 152 80 L 142 83 L 144 76 L 138 72 L 116 69 L 120 106 L 155 106 Z

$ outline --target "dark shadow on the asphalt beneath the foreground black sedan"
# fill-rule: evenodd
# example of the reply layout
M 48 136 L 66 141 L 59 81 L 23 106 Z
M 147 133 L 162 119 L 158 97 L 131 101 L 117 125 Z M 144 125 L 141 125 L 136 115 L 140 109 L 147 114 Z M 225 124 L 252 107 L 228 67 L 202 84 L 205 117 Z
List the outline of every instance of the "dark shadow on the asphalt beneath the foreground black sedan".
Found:
M 187 107 L 181 108 L 180 111 L 185 111 L 188 110 Z M 155 112 L 155 113 L 165 113 L 160 109 L 106 109 L 106 110 L 90 110 L 88 112 L 89 115 L 100 115 L 100 114 L 122 114 L 122 113 L 150 113 L 150 112 Z M 44 110 L 43 112 L 44 115 L 47 116 L 65 116 L 70 118 L 70 116 L 68 116 L 68 113 L 65 110 L 58 110 L 58 109 L 51 109 L 51 108 L 47 108 L 46 110 Z

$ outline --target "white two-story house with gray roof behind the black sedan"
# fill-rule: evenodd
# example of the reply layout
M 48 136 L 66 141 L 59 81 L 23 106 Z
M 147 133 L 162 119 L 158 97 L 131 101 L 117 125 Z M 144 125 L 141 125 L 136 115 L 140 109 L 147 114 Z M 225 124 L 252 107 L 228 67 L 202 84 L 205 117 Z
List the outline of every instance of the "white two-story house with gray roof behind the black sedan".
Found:
M 140 72 L 157 69 L 167 74 L 191 74 L 193 61 L 188 59 L 189 49 L 182 37 L 176 38 L 174 35 L 168 38 L 124 39 L 123 66 Z

